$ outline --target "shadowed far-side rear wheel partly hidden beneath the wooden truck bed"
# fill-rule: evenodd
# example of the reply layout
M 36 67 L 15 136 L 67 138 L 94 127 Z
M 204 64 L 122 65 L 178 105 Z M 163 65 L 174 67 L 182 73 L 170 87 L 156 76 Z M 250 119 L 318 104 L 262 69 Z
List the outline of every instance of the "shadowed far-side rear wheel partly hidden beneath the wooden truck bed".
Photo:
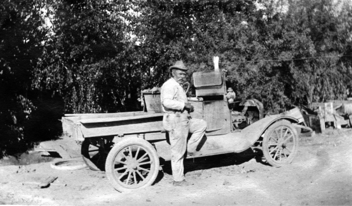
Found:
M 84 139 L 81 147 L 81 154 L 84 163 L 86 163 L 91 170 L 102 171 L 105 169 L 107 154 L 95 139 Z

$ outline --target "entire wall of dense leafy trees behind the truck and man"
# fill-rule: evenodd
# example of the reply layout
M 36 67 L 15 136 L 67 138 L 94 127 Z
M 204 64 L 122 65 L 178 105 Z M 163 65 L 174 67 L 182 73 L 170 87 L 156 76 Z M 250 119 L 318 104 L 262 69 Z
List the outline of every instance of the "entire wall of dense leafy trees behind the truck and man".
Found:
M 2 1 L 1 151 L 30 144 L 23 125 L 43 92 L 63 99 L 62 113 L 131 111 L 179 59 L 209 71 L 219 56 L 227 85 L 266 111 L 343 99 L 352 9 L 333 2 Z

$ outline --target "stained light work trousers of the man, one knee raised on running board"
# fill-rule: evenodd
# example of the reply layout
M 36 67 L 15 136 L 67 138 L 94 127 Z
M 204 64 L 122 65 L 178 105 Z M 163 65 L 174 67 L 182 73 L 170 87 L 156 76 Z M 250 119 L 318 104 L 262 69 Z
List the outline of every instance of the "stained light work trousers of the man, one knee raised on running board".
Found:
M 183 157 L 186 150 L 196 152 L 207 128 L 204 120 L 193 119 L 187 114 L 164 114 L 163 125 L 169 132 L 171 144 L 171 167 L 174 181 L 184 180 Z M 191 137 L 187 143 L 188 133 Z

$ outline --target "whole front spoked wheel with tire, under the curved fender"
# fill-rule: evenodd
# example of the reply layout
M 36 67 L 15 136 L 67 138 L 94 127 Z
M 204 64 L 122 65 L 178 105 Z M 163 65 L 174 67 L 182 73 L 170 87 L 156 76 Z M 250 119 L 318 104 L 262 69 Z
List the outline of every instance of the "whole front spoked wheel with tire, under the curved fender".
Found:
M 263 154 L 271 166 L 281 167 L 293 161 L 298 150 L 298 134 L 291 123 L 279 121 L 265 131 Z

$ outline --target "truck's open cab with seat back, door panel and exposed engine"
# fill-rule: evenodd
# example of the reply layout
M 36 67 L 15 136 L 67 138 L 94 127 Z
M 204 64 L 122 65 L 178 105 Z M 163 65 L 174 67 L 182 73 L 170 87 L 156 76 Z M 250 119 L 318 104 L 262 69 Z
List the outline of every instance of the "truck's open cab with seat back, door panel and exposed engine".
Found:
M 263 104 L 257 99 L 229 101 L 222 71 L 194 72 L 192 82 L 195 97 L 187 98 L 194 106 L 191 117 L 208 123 L 207 136 L 239 131 L 264 117 Z M 145 110 L 148 113 L 163 112 L 160 90 L 143 90 Z

